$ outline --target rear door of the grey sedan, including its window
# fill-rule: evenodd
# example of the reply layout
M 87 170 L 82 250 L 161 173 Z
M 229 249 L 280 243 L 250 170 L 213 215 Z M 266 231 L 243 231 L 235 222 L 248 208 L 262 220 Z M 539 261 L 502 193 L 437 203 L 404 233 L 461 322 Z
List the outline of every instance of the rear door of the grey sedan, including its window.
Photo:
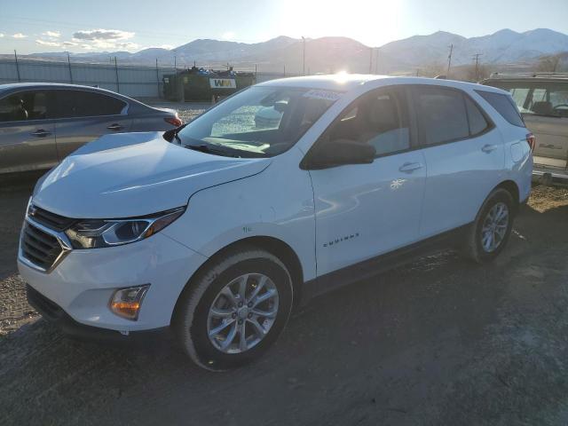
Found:
M 130 131 L 128 104 L 94 91 L 53 91 L 59 161 L 80 146 L 109 133 Z

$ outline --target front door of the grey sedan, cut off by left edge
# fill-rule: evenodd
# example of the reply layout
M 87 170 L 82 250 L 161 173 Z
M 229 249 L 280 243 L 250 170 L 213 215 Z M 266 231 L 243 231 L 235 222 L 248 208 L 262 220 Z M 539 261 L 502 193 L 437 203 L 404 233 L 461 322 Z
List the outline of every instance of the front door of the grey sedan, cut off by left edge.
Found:
M 0 173 L 51 169 L 58 162 L 45 91 L 0 99 Z

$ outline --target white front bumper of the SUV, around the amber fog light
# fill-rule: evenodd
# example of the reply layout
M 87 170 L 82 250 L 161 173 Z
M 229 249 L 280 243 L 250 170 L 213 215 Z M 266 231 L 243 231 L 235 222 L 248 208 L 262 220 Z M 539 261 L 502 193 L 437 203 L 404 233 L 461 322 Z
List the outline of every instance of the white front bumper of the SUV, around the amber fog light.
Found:
M 56 318 L 51 318 L 59 325 L 65 327 L 71 319 L 83 326 L 126 334 L 168 327 L 178 296 L 207 257 L 157 233 L 123 246 L 70 250 L 51 272 L 40 271 L 26 260 L 20 253 L 22 279 L 59 308 Z M 123 319 L 110 311 L 109 301 L 117 288 L 144 284 L 150 288 L 138 320 Z M 50 319 L 45 306 L 38 304 L 36 308 Z

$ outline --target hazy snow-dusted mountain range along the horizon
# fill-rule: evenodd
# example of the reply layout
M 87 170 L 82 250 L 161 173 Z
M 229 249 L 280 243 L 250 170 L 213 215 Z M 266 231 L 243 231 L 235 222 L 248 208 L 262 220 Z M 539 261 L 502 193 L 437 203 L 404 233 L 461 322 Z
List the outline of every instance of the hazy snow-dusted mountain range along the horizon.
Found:
M 482 63 L 506 65 L 531 63 L 543 55 L 568 51 L 568 36 L 548 28 L 538 28 L 518 33 L 501 29 L 488 36 L 466 38 L 438 31 L 429 36 L 412 36 L 384 44 L 367 46 L 348 37 L 322 37 L 306 39 L 306 72 L 335 72 L 346 69 L 351 72 L 388 73 L 395 70 L 411 70 L 444 64 L 449 46 L 453 45 L 452 63 L 456 66 L 472 63 L 474 54 L 480 53 Z M 303 41 L 279 36 L 263 43 L 238 43 L 230 41 L 198 39 L 167 50 L 149 48 L 135 53 L 128 51 L 75 53 L 73 61 L 108 63 L 116 57 L 123 65 L 173 65 L 190 67 L 193 62 L 200 67 L 221 67 L 227 63 L 236 68 L 281 72 L 286 67 L 290 74 L 302 71 Z M 372 55 L 372 57 L 371 57 Z M 28 59 L 67 59 L 65 52 L 45 52 L 28 55 Z

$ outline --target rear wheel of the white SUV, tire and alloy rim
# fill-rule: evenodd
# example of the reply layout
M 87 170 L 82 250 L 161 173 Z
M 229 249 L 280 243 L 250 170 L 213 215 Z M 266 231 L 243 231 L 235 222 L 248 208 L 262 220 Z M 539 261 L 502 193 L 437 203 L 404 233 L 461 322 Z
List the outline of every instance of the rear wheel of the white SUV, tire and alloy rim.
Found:
M 513 197 L 498 188 L 485 200 L 476 221 L 467 233 L 464 252 L 471 260 L 483 264 L 492 261 L 509 241 L 514 219 Z

